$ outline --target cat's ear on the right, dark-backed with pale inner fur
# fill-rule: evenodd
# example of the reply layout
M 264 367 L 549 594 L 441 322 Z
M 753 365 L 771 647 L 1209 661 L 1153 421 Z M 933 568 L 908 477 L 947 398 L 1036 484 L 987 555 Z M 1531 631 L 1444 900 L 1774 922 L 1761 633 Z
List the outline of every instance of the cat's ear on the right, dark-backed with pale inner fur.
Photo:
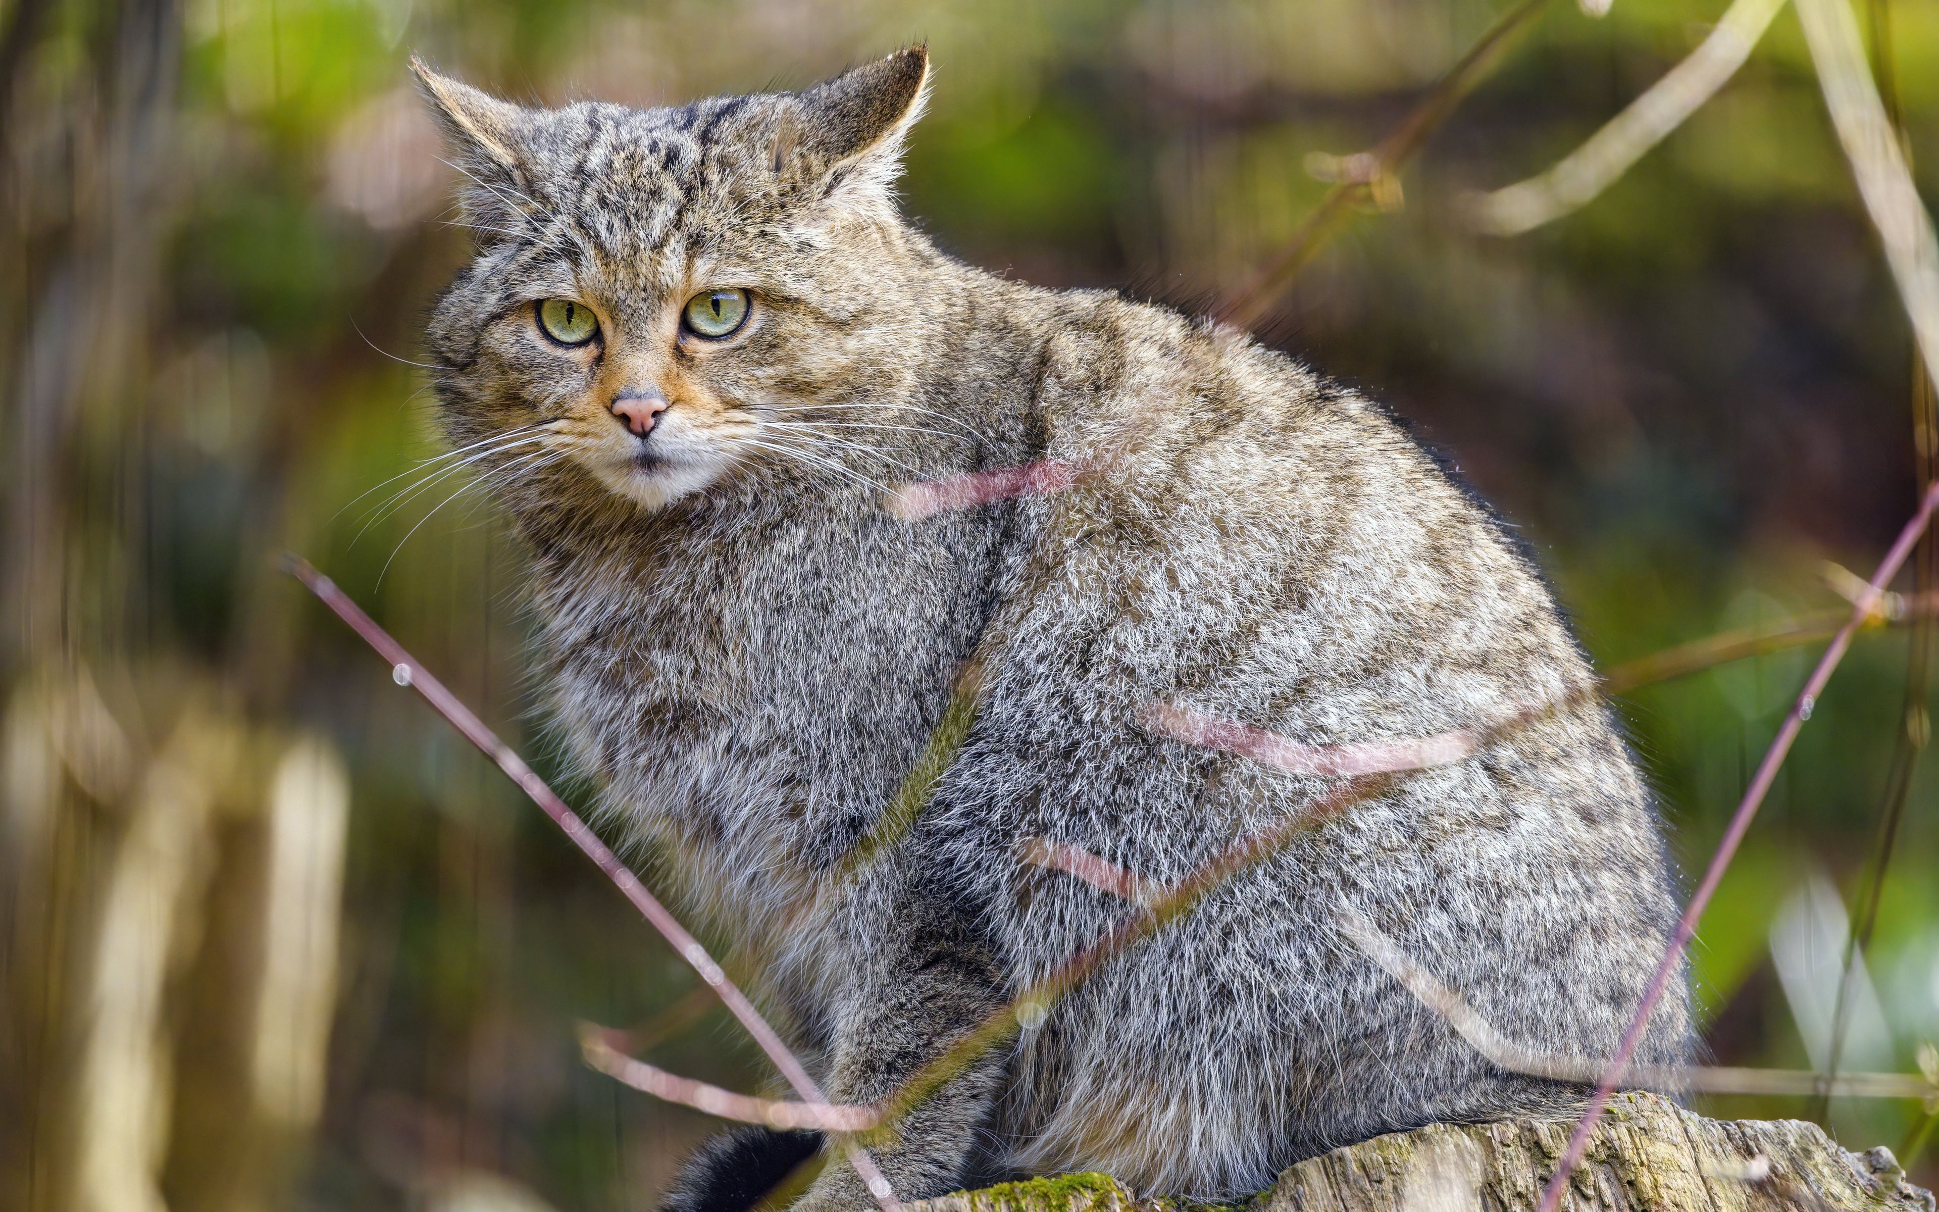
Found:
M 909 128 L 929 101 L 929 47 L 907 47 L 797 93 L 799 109 L 776 136 L 776 169 L 797 155 L 820 176 L 822 196 L 894 207 Z

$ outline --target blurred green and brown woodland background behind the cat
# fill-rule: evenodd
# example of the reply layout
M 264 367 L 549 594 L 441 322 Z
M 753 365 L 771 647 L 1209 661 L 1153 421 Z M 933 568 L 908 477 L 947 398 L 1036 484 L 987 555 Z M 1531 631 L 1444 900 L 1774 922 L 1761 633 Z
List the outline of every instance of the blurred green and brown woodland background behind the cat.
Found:
M 1551 0 L 1256 326 L 1493 500 L 1604 667 L 1842 609 L 1823 560 L 1869 572 L 1933 446 L 1790 10 L 1582 211 L 1518 239 L 1458 221 L 1464 190 L 1553 163 L 1722 8 Z M 574 1024 L 642 1028 L 648 1059 L 733 1088 L 768 1076 L 553 826 L 273 566 L 312 558 L 553 770 L 516 541 L 461 477 L 380 487 L 438 450 L 411 363 L 467 250 L 409 52 L 520 101 L 659 105 L 927 39 L 906 204 L 944 248 L 1210 308 L 1328 188 L 1311 153 L 1373 145 L 1505 10 L 0 2 L 0 1206 L 652 1208 L 717 1123 L 586 1070 Z M 1858 17 L 1935 198 L 1939 4 Z M 1939 1037 L 1918 638 L 1861 634 L 1702 923 L 1718 1063 L 1827 1063 L 1871 886 L 1840 1063 L 1910 1070 Z M 1621 702 L 1685 871 L 1813 657 Z M 1828 1119 L 1856 1148 L 1918 1150 L 1931 1125 L 1902 1101 L 1701 1105 Z

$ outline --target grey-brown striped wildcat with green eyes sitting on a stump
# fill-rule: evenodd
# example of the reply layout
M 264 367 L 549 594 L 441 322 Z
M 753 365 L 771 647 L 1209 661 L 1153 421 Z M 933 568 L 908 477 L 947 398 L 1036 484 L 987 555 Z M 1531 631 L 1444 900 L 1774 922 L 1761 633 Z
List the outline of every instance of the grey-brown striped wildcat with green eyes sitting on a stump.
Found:
M 1340 787 L 1154 731 L 1154 704 L 1307 745 L 1563 704 L 1315 820 L 958 1072 L 878 1148 L 902 1198 L 1066 1169 L 1231 1195 L 1377 1132 L 1580 1103 L 1336 925 L 1353 906 L 1509 1039 L 1605 1057 L 1675 917 L 1540 576 L 1379 407 L 1218 324 L 940 254 L 894 200 L 923 48 L 653 111 L 419 76 L 479 229 L 430 322 L 442 419 L 529 541 L 562 735 L 688 906 L 758 941 L 836 1101 L 1136 911 L 1030 840 L 1169 882 Z M 1037 460 L 1086 473 L 884 510 Z M 845 863 L 970 657 L 954 762 Z M 1640 1059 L 1689 1047 L 1679 989 Z M 731 1132 L 669 1206 L 739 1212 L 812 1148 Z M 867 1204 L 832 1164 L 797 1206 Z

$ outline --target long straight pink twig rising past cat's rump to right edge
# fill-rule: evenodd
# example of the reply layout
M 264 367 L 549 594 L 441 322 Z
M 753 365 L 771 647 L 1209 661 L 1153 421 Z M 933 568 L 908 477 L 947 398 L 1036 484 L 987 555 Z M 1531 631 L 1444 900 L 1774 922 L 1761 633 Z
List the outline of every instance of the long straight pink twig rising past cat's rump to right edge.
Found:
M 1885 553 L 1885 560 L 1879 562 L 1879 570 L 1871 574 L 1867 590 L 1860 593 L 1856 603 L 1852 603 L 1852 619 L 1838 628 L 1836 636 L 1832 636 L 1830 648 L 1827 648 L 1825 655 L 1819 657 L 1817 669 L 1811 671 L 1803 692 L 1797 694 L 1797 702 L 1792 706 L 1790 714 L 1784 716 L 1784 723 L 1778 727 L 1776 739 L 1770 741 L 1764 760 L 1757 766 L 1757 774 L 1751 776 L 1751 785 L 1743 791 L 1743 803 L 1737 805 L 1737 813 L 1732 816 L 1730 828 L 1724 832 L 1724 840 L 1718 844 L 1716 855 L 1710 859 L 1710 869 L 1704 871 L 1702 882 L 1697 884 L 1697 894 L 1691 896 L 1691 904 L 1683 909 L 1683 919 L 1677 923 L 1675 935 L 1669 937 L 1669 946 L 1664 948 L 1664 958 L 1656 966 L 1656 975 L 1650 977 L 1650 983 L 1642 993 L 1642 1003 L 1637 1006 L 1635 1018 L 1629 1020 L 1629 1030 L 1623 1032 L 1623 1041 L 1609 1059 L 1609 1067 L 1604 1070 L 1602 1082 L 1596 1084 L 1596 1094 L 1590 1098 L 1588 1109 L 1582 1111 L 1582 1119 L 1569 1136 L 1569 1146 L 1563 1150 L 1555 1177 L 1549 1179 L 1547 1189 L 1542 1193 L 1542 1212 L 1555 1212 L 1561 1204 L 1563 1191 L 1569 1187 L 1569 1177 L 1574 1173 L 1576 1164 L 1582 1160 L 1582 1152 L 1588 1148 L 1590 1132 L 1596 1131 L 1596 1121 L 1602 1119 L 1602 1111 L 1609 1103 L 1609 1094 L 1615 1090 L 1617 1082 L 1623 1080 L 1623 1072 L 1629 1068 L 1631 1057 L 1637 1055 L 1637 1045 L 1642 1043 L 1642 1030 L 1648 1026 L 1650 1014 L 1656 1010 L 1656 1003 L 1662 1001 L 1664 991 L 1669 987 L 1669 979 L 1677 972 L 1677 962 L 1683 958 L 1683 948 L 1689 946 L 1691 937 L 1697 933 L 1697 921 L 1702 917 L 1704 908 L 1716 894 L 1716 886 L 1724 878 L 1724 871 L 1737 853 L 1737 844 L 1743 842 L 1743 834 L 1749 832 L 1759 805 L 1764 803 L 1770 783 L 1778 778 L 1778 766 L 1784 764 L 1784 758 L 1792 750 L 1792 741 L 1797 739 L 1797 731 L 1803 727 L 1805 719 L 1811 718 L 1813 708 L 1817 708 L 1819 694 L 1825 692 L 1825 685 L 1830 681 L 1832 671 L 1838 669 L 1838 661 L 1844 659 L 1846 648 L 1852 646 L 1852 636 L 1877 611 L 1885 586 L 1889 586 L 1892 576 L 1898 574 L 1900 564 L 1906 562 L 1906 557 L 1912 555 L 1912 547 L 1920 541 L 1920 535 L 1925 533 L 1925 526 L 1931 522 L 1935 506 L 1939 506 L 1939 483 L 1925 493 L 1923 500 L 1920 500 L 1920 510 L 1910 522 L 1906 522 L 1906 527 L 1898 531 L 1898 539 L 1892 543 L 1892 549 Z

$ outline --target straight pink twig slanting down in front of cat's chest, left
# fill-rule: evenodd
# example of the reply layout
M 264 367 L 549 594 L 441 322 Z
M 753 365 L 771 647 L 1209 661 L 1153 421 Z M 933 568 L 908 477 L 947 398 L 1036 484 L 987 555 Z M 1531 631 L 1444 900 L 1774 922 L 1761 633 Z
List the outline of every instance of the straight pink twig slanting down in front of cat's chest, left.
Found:
M 781 1070 L 787 1084 L 795 1088 L 801 1101 L 820 1105 L 828 1103 L 828 1100 L 822 1098 L 820 1086 L 816 1086 L 814 1078 L 809 1076 L 809 1070 L 803 1068 L 801 1061 L 795 1059 L 795 1053 L 781 1043 L 781 1037 L 774 1034 L 774 1028 L 760 1016 L 754 1003 L 750 1003 L 747 995 L 727 979 L 727 973 L 714 962 L 708 948 L 700 946 L 700 941 L 686 933 L 686 927 L 683 927 L 673 913 L 669 913 L 667 908 L 646 890 L 646 884 L 642 884 L 640 878 L 619 861 L 619 855 L 615 855 L 613 849 L 599 840 L 599 834 L 591 832 L 586 822 L 580 820 L 578 813 L 568 809 L 566 801 L 558 799 L 558 795 L 545 785 L 545 780 L 541 780 L 524 758 L 512 752 L 512 747 L 485 727 L 485 721 L 479 719 L 471 708 L 446 690 L 444 683 L 419 665 L 417 659 L 413 659 L 401 644 L 392 640 L 390 632 L 378 626 L 370 615 L 365 615 L 363 609 L 335 586 L 335 582 L 310 566 L 308 560 L 295 555 L 283 557 L 283 566 L 291 576 L 301 580 L 304 588 L 318 597 L 318 601 L 330 607 L 337 619 L 363 636 L 365 644 L 390 661 L 392 681 L 399 686 L 411 686 L 417 690 L 425 702 L 432 706 L 432 710 L 444 716 L 465 741 L 471 741 L 471 745 L 479 749 L 479 752 L 496 762 L 498 770 L 504 770 L 506 776 L 518 783 L 520 789 L 529 795 L 531 801 L 539 805 L 539 809 L 551 816 L 558 828 L 566 832 L 566 838 L 580 847 L 580 853 L 591 859 L 593 865 L 599 867 L 609 880 L 613 880 L 613 886 L 619 888 L 636 909 L 640 909 L 640 915 L 653 923 L 653 929 L 673 944 L 673 950 L 677 950 L 681 958 L 700 973 L 700 979 L 706 981 L 723 1003 L 727 1003 L 727 1008 L 741 1020 L 747 1034 L 754 1037 L 760 1051 L 768 1053 L 768 1059 Z M 902 1212 L 902 1202 L 896 1198 L 896 1191 L 888 1185 L 888 1179 L 874 1164 L 874 1158 L 871 1158 L 869 1152 L 853 1140 L 843 1140 L 842 1146 L 847 1150 L 849 1164 L 855 1167 L 855 1173 L 861 1175 L 861 1181 L 869 1187 L 869 1195 L 874 1196 L 874 1202 L 880 1204 L 882 1212 Z

